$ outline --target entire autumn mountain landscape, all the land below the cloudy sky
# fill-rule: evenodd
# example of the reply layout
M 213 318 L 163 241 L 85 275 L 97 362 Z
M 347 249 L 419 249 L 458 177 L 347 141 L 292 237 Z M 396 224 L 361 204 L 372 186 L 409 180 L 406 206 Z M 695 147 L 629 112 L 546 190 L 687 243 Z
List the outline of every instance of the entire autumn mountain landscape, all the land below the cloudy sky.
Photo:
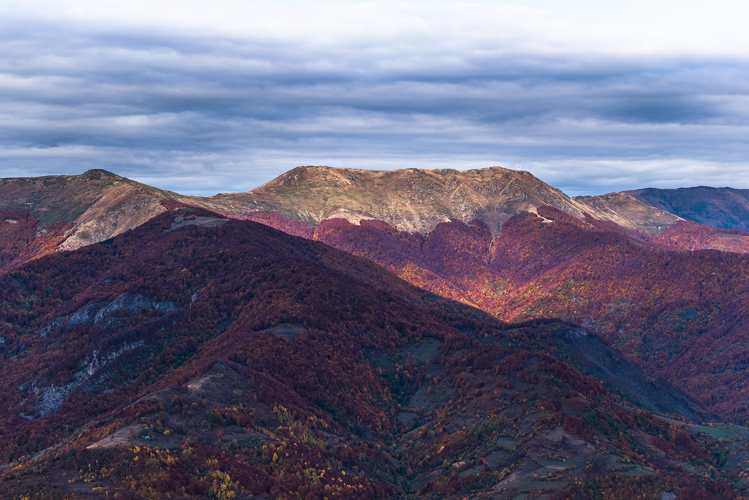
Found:
M 0 498 L 742 498 L 740 199 L 1 179 Z

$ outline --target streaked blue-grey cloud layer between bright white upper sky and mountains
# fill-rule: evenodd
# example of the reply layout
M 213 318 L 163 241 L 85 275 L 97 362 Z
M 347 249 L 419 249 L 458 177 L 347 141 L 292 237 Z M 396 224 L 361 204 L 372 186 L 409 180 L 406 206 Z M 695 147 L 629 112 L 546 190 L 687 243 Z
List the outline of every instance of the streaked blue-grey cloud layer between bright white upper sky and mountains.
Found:
M 298 164 L 500 164 L 573 194 L 749 187 L 746 60 L 408 50 L 4 31 L 0 175 L 99 167 L 213 194 Z

